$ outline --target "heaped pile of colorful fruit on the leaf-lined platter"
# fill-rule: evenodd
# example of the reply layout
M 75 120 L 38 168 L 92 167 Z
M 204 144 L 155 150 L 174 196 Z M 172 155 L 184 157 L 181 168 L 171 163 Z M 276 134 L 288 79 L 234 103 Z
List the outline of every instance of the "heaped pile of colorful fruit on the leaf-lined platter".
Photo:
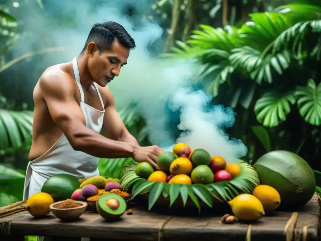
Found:
M 136 167 L 136 175 L 153 182 L 211 184 L 230 181 L 241 172 L 238 164 L 226 164 L 223 157 L 211 157 L 201 148 L 192 151 L 185 143 L 176 144 L 173 152 L 161 153 L 157 165 L 160 170 L 154 171 L 151 164 L 140 163 Z

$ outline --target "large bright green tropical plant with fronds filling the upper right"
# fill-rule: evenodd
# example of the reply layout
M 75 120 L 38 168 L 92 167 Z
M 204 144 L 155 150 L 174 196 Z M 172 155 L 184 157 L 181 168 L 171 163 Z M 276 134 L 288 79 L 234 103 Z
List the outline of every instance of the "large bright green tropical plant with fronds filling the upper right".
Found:
M 264 87 L 260 88 L 261 96 L 254 108 L 257 120 L 264 126 L 274 127 L 285 121 L 294 103 L 308 123 L 320 125 L 318 85 L 312 80 L 317 73 L 310 73 L 304 80 L 293 80 L 290 85 L 289 81 L 275 81 L 284 73 L 307 67 L 311 60 L 319 61 L 321 20 L 315 19 L 318 14 L 319 2 L 295 0 L 275 12 L 250 14 L 251 22 L 239 29 L 200 25 L 202 31 L 194 31 L 186 43 L 178 41 L 181 49 L 173 48 L 174 53 L 165 56 L 192 57 L 203 63 L 200 77 L 214 76 L 207 83 L 207 92 L 213 97 L 219 94 L 222 84 L 239 85 L 236 82 L 240 79 L 251 79 Z M 241 77 L 236 80 L 236 76 Z

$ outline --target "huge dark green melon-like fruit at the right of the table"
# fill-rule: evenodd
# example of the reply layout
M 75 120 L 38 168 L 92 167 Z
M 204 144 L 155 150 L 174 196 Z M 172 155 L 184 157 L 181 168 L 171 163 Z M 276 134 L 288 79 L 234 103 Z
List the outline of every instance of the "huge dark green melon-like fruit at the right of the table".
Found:
M 316 178 L 308 163 L 297 154 L 276 150 L 261 156 L 254 164 L 261 184 L 275 188 L 282 206 L 302 207 L 314 195 Z

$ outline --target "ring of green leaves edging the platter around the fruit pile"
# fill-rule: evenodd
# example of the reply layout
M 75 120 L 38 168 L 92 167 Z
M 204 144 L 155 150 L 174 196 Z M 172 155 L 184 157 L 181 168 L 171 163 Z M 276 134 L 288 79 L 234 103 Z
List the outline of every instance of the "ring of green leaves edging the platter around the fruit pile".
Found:
M 241 172 L 231 181 L 212 184 L 169 184 L 152 182 L 136 175 L 137 162 L 126 163 L 120 171 L 118 179 L 124 190 L 132 191 L 132 198 L 137 195 L 148 198 L 148 210 L 154 204 L 191 208 L 215 205 L 232 200 L 240 193 L 251 193 L 260 184 L 260 179 L 254 168 L 243 160 L 238 164 Z M 180 196 L 180 198 L 178 198 Z

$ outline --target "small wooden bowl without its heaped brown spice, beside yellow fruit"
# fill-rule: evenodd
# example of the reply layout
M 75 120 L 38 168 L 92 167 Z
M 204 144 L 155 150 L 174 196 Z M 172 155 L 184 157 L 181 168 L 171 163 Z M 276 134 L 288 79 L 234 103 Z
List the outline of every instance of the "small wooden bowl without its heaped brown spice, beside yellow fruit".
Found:
M 50 211 L 52 212 L 53 215 L 56 216 L 56 218 L 61 219 L 63 221 L 74 221 L 78 219 L 86 210 L 88 204 L 87 202 L 83 201 L 75 201 L 77 203 L 82 204 L 79 207 L 76 208 L 66 208 L 66 209 L 58 209 L 55 208 L 55 206 L 63 201 L 55 202 L 49 206 Z

